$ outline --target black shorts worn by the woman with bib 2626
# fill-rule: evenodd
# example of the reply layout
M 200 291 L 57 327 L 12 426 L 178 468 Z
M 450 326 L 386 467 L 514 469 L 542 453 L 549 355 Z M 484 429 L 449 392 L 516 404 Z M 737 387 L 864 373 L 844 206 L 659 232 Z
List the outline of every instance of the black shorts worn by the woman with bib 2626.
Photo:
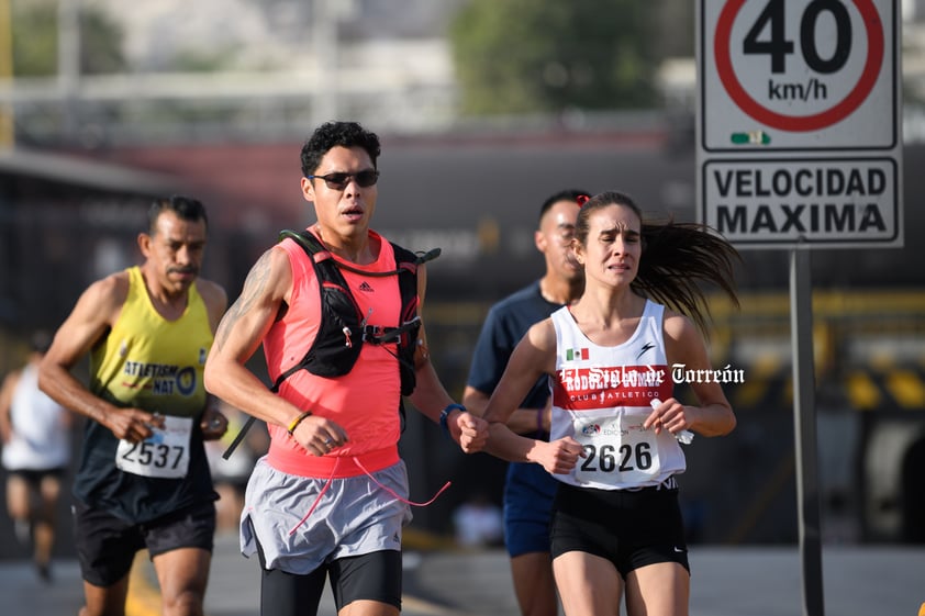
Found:
M 634 569 L 677 562 L 690 572 L 677 488 L 597 490 L 562 484 L 553 504 L 551 555 L 588 552 Z

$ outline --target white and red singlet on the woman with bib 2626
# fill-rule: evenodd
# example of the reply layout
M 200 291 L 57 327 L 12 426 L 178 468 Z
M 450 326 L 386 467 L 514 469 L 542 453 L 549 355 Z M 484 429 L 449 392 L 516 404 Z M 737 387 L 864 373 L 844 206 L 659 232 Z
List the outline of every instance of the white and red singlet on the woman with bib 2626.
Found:
M 553 313 L 556 376 L 549 383 L 549 440 L 570 436 L 586 455 L 570 473 L 554 478 L 580 488 L 625 490 L 658 485 L 684 472 L 684 453 L 675 436 L 643 428 L 649 403 L 668 400 L 673 390 L 664 313 L 665 306 L 646 301 L 636 331 L 615 347 L 589 340 L 568 306 Z

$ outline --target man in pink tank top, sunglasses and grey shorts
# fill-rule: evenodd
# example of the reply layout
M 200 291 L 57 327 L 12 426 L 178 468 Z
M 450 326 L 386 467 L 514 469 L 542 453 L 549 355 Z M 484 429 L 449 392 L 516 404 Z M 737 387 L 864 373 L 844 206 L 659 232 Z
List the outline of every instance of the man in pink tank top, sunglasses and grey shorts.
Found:
M 369 228 L 379 154 L 379 138 L 359 124 L 314 131 L 301 189 L 317 222 L 308 239 L 288 237 L 257 260 L 205 365 L 208 390 L 270 434 L 241 520 L 242 552 L 263 569 L 261 614 L 315 614 L 327 578 L 338 612 L 399 614 L 401 530 L 415 504 L 398 453 L 402 392 L 412 387 L 403 368 L 415 408 L 456 440 L 487 438 L 487 424 L 454 403 L 428 360 L 423 264 L 400 259 L 406 251 Z M 313 260 L 333 262 L 337 280 L 320 280 L 300 245 L 312 239 L 321 246 Z M 410 306 L 400 291 L 408 270 L 417 289 Z M 246 366 L 260 346 L 272 389 Z

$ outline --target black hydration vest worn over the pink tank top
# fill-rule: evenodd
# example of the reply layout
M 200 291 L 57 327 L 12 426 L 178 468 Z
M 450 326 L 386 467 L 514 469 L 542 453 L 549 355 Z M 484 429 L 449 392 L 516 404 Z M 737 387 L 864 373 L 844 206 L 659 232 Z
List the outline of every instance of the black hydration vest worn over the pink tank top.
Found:
M 278 391 L 282 382 L 293 372 L 305 369 L 319 377 L 343 377 L 349 372 L 359 358 L 364 344 L 385 345 L 395 343 L 401 373 L 401 393 L 410 395 L 414 391 L 414 350 L 417 347 L 417 333 L 421 317 L 417 315 L 417 266 L 435 259 L 441 249 L 435 248 L 423 255 L 392 244 L 395 255 L 395 269 L 387 272 L 369 272 L 353 269 L 333 258 L 331 253 L 309 232 L 286 229 L 279 239 L 291 238 L 298 243 L 314 268 L 321 291 L 321 325 L 305 357 L 296 366 L 286 370 L 274 383 L 272 391 Z M 394 327 L 367 325 L 368 315 L 360 312 L 341 268 L 364 276 L 399 277 L 401 295 L 401 318 Z

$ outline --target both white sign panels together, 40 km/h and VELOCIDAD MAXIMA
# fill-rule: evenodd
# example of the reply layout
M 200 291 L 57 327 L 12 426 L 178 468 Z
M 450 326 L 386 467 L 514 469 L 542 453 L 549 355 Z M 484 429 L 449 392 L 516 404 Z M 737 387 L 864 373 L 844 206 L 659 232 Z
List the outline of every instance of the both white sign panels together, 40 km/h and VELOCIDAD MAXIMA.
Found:
M 902 246 L 899 0 L 700 0 L 698 211 L 738 247 Z

